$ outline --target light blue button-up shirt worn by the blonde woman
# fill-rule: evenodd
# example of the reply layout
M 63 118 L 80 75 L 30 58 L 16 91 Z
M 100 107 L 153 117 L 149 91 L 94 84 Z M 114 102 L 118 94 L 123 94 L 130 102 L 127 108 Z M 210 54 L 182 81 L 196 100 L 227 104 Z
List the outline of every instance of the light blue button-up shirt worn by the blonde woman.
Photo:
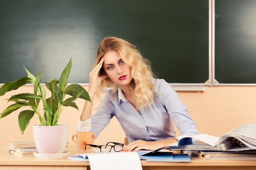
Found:
M 99 135 L 113 116 L 117 118 L 129 142 L 142 139 L 155 141 L 175 137 L 173 123 L 182 135 L 198 134 L 195 121 L 189 116 L 185 104 L 164 79 L 153 79 L 159 94 L 153 104 L 140 109 L 140 114 L 125 98 L 119 88 L 111 97 L 112 90 L 106 91 L 97 112 L 86 121 L 79 120 L 78 131 L 93 131 Z

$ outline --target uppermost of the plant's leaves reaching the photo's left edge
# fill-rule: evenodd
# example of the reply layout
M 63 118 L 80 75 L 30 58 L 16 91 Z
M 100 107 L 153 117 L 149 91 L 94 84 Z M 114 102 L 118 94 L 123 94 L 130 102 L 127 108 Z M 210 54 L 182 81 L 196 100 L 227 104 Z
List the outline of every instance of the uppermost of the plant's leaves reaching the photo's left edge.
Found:
M 5 82 L 4 85 L 0 87 L 0 96 L 4 95 L 8 91 L 16 90 L 31 81 L 32 79 L 29 77 L 21 77 L 20 79 L 13 82 Z

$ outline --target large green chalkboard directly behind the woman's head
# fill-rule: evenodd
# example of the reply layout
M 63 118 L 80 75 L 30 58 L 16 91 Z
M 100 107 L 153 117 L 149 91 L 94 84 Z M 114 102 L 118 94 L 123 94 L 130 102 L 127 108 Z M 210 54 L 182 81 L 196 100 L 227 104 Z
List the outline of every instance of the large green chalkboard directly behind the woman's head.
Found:
M 69 83 L 88 83 L 99 43 L 135 44 L 169 83 L 209 79 L 208 0 L 0 0 L 0 83 L 27 76 L 58 79 L 72 57 Z

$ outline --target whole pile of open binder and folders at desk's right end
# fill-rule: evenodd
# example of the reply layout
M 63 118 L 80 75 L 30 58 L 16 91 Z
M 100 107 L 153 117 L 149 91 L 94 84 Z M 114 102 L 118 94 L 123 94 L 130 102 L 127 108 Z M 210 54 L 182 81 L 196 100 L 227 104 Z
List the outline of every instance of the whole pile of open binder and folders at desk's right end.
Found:
M 193 151 L 202 160 L 256 160 L 255 132 L 255 124 L 242 124 L 221 137 L 208 134 L 183 135 L 177 137 L 178 142 L 163 148 Z

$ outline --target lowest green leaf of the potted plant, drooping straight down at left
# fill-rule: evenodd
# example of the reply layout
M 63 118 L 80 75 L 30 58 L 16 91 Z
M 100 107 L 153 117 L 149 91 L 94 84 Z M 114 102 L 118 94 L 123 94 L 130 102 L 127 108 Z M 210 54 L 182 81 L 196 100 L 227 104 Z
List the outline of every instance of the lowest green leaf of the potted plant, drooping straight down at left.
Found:
M 24 110 L 18 116 L 20 131 L 23 133 L 29 124 L 30 119 L 34 116 L 35 112 L 32 110 Z

